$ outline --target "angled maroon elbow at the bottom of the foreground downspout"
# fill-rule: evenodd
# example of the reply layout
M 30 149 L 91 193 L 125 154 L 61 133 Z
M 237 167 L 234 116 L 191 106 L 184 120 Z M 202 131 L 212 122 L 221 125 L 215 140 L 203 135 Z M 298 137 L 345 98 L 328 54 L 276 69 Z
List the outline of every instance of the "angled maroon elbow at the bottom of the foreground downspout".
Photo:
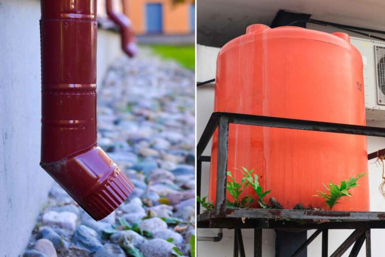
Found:
M 108 216 L 134 185 L 100 148 L 49 164 L 40 164 L 96 220 Z

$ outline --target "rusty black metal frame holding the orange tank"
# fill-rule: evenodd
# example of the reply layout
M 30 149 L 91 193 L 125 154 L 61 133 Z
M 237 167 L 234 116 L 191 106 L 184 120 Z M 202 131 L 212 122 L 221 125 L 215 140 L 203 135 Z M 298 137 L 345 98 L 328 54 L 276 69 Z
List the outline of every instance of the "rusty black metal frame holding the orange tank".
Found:
M 328 255 L 328 229 L 354 229 L 353 233 L 331 256 L 341 256 L 354 243 L 349 256 L 355 257 L 364 241 L 366 241 L 366 256 L 371 256 L 370 229 L 385 228 L 384 212 L 227 208 L 226 182 L 230 123 L 378 137 L 385 137 L 384 128 L 215 112 L 211 115 L 197 144 L 197 194 L 200 196 L 202 162 L 210 162 L 211 159 L 209 156 L 202 156 L 202 153 L 218 128 L 216 205 L 213 210 L 199 214 L 198 204 L 197 227 L 234 229 L 234 257 L 238 256 L 238 253 L 241 257 L 244 256 L 241 228 L 254 228 L 255 257 L 262 256 L 262 229 L 265 228 L 297 231 L 298 229 L 317 229 L 293 256 L 298 256 L 322 233 L 322 257 Z M 376 158 L 382 153 L 385 153 L 385 149 L 369 154 L 368 159 Z

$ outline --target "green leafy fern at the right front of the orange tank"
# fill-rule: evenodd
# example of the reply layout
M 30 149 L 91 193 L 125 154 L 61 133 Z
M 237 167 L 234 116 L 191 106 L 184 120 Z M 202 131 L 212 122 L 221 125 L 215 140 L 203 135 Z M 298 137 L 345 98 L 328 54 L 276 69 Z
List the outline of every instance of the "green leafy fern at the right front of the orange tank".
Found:
M 317 191 L 316 197 L 322 197 L 326 199 L 325 203 L 329 207 L 329 211 L 333 209 L 336 204 L 339 204 L 340 200 L 351 200 L 350 198 L 342 198 L 344 196 L 351 197 L 351 194 L 347 192 L 349 189 L 356 187 L 357 181 L 359 178 L 365 176 L 368 173 L 360 173 L 356 177 L 351 177 L 349 180 L 342 180 L 340 186 L 334 184 L 332 181 L 328 185 L 324 184 L 324 187 L 328 191 L 324 193 L 322 191 Z

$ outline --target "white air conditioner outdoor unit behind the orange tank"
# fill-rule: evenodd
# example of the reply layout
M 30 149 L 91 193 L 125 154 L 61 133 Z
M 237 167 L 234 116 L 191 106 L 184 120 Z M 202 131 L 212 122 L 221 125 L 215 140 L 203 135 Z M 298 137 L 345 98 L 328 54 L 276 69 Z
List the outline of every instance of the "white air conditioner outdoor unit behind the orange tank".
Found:
M 385 42 L 350 38 L 364 64 L 366 119 L 385 120 Z

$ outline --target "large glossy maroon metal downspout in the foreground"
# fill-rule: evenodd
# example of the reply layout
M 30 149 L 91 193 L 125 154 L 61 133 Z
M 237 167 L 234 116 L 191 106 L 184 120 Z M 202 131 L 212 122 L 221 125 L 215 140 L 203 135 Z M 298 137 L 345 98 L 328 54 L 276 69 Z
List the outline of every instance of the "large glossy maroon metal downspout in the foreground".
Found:
M 96 142 L 96 0 L 41 0 L 41 162 L 94 219 L 134 189 Z

